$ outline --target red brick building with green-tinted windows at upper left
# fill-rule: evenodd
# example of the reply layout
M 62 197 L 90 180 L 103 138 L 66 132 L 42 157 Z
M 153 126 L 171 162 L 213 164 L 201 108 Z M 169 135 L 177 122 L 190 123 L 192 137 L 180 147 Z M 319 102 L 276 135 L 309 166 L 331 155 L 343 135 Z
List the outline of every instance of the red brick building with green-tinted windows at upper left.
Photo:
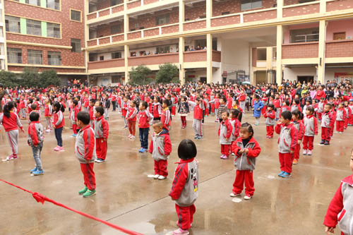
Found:
M 87 78 L 84 6 L 83 0 L 1 0 L 4 68 L 14 73 L 54 68 L 63 79 Z

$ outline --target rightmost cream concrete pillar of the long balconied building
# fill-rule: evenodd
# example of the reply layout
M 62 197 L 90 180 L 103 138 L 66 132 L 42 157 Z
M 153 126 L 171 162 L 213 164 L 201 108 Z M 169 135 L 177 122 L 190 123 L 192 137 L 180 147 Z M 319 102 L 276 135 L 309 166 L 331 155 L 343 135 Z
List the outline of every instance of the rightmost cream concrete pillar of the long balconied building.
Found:
M 318 35 L 318 82 L 324 84 L 325 78 L 325 37 L 326 37 L 326 22 L 320 20 L 319 35 Z

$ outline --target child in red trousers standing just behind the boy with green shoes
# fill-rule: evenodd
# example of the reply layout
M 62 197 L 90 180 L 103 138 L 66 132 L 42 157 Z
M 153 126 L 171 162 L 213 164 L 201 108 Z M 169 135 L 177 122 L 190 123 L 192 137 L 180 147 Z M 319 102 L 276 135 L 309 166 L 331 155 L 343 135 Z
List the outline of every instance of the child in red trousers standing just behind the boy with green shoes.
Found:
M 104 109 L 102 107 L 95 108 L 95 121 L 93 122 L 95 130 L 95 152 L 97 159 L 95 162 L 102 163 L 107 157 L 109 123 L 104 119 Z

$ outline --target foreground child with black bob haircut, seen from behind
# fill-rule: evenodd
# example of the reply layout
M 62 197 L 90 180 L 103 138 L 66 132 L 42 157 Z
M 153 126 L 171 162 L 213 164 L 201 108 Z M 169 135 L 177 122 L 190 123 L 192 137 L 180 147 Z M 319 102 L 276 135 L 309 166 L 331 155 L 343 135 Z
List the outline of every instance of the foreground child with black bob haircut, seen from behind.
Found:
M 181 159 L 174 172 L 172 189 L 169 196 L 175 201 L 175 209 L 179 217 L 179 229 L 173 234 L 189 234 L 193 223 L 196 207 L 193 205 L 198 198 L 198 162 L 195 159 L 197 149 L 192 140 L 181 140 L 178 156 Z

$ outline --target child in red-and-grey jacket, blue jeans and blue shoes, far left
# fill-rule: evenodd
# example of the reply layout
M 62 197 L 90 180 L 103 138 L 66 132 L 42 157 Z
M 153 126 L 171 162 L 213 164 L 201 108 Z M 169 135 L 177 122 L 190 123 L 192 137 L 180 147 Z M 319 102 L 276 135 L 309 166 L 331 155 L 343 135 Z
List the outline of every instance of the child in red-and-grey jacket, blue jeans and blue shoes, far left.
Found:
M 30 114 L 30 126 L 28 126 L 28 145 L 32 147 L 33 158 L 35 159 L 35 168 L 30 171 L 35 176 L 44 174 L 40 153 L 42 152 L 44 129 L 40 123 L 40 114 L 32 112 Z

